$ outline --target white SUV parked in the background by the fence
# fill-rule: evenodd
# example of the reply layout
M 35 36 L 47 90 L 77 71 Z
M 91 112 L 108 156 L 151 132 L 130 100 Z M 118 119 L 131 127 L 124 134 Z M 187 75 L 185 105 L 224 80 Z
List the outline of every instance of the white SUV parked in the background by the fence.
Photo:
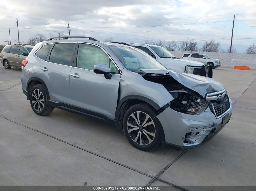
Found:
M 210 56 L 208 56 L 206 54 L 185 53 L 185 54 L 183 54 L 181 59 L 202 62 L 204 64 L 210 65 L 212 68 L 221 67 L 221 61 L 219 59 L 211 58 Z

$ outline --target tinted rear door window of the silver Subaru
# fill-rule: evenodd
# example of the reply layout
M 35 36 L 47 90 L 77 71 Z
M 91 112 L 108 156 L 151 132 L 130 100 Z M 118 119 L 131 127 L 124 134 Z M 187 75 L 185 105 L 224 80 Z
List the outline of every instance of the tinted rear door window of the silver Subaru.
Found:
M 71 66 L 75 43 L 56 43 L 50 54 L 49 62 Z

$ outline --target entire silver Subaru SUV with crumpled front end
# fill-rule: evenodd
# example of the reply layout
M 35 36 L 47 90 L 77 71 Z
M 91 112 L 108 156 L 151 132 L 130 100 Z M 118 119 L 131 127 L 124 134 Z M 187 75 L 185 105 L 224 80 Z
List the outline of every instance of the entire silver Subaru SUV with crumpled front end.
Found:
M 168 70 L 131 46 L 83 38 L 50 38 L 23 60 L 22 89 L 36 114 L 56 107 L 105 120 L 144 151 L 195 147 L 228 123 L 232 104 L 218 81 Z

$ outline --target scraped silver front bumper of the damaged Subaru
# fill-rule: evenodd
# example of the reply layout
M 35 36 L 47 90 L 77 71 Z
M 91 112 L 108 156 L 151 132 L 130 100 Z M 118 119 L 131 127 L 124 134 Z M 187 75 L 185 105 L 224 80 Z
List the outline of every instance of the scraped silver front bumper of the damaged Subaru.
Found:
M 208 142 L 228 123 L 232 114 L 230 98 L 229 101 L 228 112 L 219 119 L 209 107 L 200 115 L 180 113 L 168 107 L 157 116 L 165 133 L 163 143 L 184 150 Z

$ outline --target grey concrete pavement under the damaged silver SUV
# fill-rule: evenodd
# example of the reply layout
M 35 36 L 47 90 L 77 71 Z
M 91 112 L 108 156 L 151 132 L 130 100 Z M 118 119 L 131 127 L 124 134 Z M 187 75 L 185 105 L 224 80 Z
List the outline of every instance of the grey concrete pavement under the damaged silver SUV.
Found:
M 36 115 L 22 93 L 22 71 L 0 66 L 0 185 L 145 186 L 157 175 L 152 185 L 256 185 L 256 71 L 213 72 L 234 103 L 228 125 L 187 152 L 143 152 L 97 119 L 56 108 Z

